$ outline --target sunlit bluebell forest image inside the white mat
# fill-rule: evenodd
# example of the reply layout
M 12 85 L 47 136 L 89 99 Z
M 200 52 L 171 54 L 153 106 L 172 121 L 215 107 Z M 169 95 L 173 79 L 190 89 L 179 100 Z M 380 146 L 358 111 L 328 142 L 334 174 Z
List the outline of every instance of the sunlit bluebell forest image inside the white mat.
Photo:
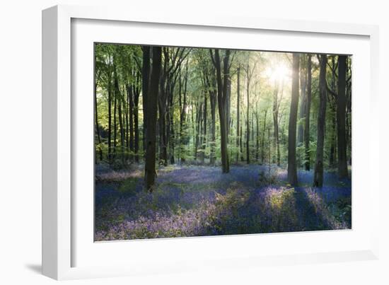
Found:
M 352 227 L 352 56 L 95 43 L 95 241 Z

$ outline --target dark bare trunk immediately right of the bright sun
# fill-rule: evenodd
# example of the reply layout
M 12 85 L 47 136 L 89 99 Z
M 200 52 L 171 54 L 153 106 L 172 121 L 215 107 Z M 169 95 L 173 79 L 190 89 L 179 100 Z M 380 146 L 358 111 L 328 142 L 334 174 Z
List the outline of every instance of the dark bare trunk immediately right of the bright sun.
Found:
M 288 182 L 297 185 L 296 163 L 296 123 L 298 108 L 298 74 L 300 69 L 300 55 L 293 54 L 292 63 L 292 87 L 291 87 L 291 111 L 289 113 L 288 129 Z

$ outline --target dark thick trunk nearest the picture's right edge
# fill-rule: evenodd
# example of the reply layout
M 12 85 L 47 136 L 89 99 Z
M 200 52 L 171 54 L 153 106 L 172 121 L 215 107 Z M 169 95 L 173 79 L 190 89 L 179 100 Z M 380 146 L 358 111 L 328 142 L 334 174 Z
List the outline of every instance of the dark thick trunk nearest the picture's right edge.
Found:
M 338 175 L 347 178 L 347 148 L 346 148 L 346 73 L 347 62 L 345 55 L 338 57 L 338 95 L 337 95 L 337 149 Z

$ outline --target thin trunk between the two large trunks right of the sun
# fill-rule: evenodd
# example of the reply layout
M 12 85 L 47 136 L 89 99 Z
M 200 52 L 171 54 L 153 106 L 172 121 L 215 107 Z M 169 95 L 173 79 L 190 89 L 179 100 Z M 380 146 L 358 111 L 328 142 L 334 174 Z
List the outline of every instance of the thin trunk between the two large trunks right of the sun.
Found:
M 310 134 L 309 134 L 309 128 L 310 128 L 310 97 L 312 94 L 312 59 L 311 55 L 308 54 L 308 63 L 307 63 L 307 93 L 306 93 L 306 122 L 305 122 L 305 132 L 304 132 L 304 144 L 305 144 L 305 166 L 306 170 L 310 170 L 310 148 L 309 148 L 309 141 L 310 141 Z

